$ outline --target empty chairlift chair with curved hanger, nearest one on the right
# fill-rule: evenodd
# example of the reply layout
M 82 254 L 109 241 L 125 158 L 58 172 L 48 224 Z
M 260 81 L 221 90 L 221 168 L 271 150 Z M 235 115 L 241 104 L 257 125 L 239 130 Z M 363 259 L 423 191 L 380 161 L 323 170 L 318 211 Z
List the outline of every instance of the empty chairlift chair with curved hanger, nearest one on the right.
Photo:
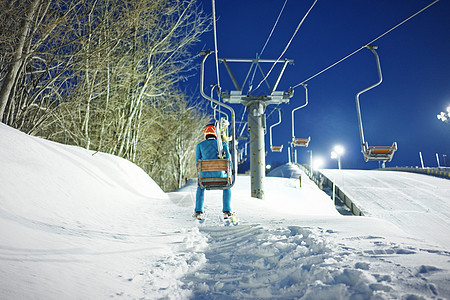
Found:
M 364 129 L 363 129 L 362 118 L 361 118 L 361 108 L 359 105 L 359 96 L 362 93 L 365 93 L 368 90 L 373 89 L 374 87 L 378 86 L 383 81 L 383 75 L 381 73 L 380 59 L 378 57 L 377 52 L 375 51 L 376 49 L 378 49 L 378 47 L 377 46 L 369 46 L 369 45 L 366 47 L 369 50 L 371 50 L 372 53 L 375 55 L 375 60 L 376 60 L 377 69 L 378 69 L 378 82 L 356 94 L 356 112 L 358 114 L 359 136 L 361 139 L 361 152 L 363 153 L 364 160 L 366 162 L 382 161 L 383 168 L 384 168 L 384 163 L 390 162 L 392 160 L 392 158 L 394 157 L 394 153 L 395 153 L 395 151 L 397 151 L 397 142 L 393 142 L 391 146 L 369 146 L 369 143 L 364 139 Z

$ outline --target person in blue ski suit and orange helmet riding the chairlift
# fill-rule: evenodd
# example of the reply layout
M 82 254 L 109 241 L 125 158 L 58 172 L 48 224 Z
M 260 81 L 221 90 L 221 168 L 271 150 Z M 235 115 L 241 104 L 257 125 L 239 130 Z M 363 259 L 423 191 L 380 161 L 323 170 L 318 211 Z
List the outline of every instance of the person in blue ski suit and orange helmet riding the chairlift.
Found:
M 217 159 L 219 157 L 219 147 L 217 145 L 217 133 L 216 127 L 214 125 L 207 125 L 204 129 L 205 140 L 197 144 L 195 149 L 195 160 L 198 163 L 200 159 Z M 225 158 L 229 159 L 231 157 L 228 145 L 222 142 L 223 153 Z M 202 172 L 201 177 L 203 178 L 217 178 L 217 177 L 227 177 L 224 171 L 211 171 Z M 194 217 L 197 219 L 203 218 L 203 202 L 205 201 L 205 189 L 200 186 L 197 187 L 197 194 L 195 198 L 195 213 Z M 222 212 L 224 218 L 229 218 L 231 213 L 231 190 L 223 190 L 223 206 Z

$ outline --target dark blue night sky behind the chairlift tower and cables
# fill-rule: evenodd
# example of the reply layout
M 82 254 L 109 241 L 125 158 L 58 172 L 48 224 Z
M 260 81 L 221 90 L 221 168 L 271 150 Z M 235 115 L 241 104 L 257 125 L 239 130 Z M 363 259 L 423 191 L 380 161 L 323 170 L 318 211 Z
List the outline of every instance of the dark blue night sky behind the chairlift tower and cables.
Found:
M 298 31 L 284 58 L 294 59 L 281 80 L 278 90 L 287 91 L 315 75 L 399 22 L 422 9 L 430 0 L 318 0 Z M 211 14 L 211 0 L 201 1 Z M 261 58 L 276 59 L 286 47 L 312 0 L 288 0 L 273 36 Z M 269 36 L 284 0 L 216 0 L 218 49 L 220 58 L 255 58 Z M 441 0 L 431 8 L 379 39 L 375 45 L 383 82 L 361 95 L 365 138 L 369 145 L 398 143 L 398 151 L 386 166 L 420 165 L 421 151 L 426 166 L 436 166 L 436 153 L 450 156 L 450 124 L 436 115 L 450 105 L 450 1 Z M 214 49 L 213 32 L 203 36 L 196 49 Z M 234 75 L 243 82 L 250 65 L 231 64 Z M 265 71 L 269 64 L 263 65 Z M 214 57 L 206 64 L 205 92 L 216 83 Z M 219 65 L 222 89 L 234 87 L 223 66 Z M 273 74 L 278 73 L 274 69 Z M 257 73 L 258 75 L 258 73 Z M 273 82 L 274 77 L 269 77 Z M 257 76 L 255 83 L 262 77 Z M 296 137 L 311 136 L 310 146 L 298 149 L 300 163 L 309 163 L 309 154 L 321 156 L 325 168 L 336 168 L 330 159 L 336 144 L 345 147 L 344 168 L 377 168 L 377 162 L 364 162 L 355 107 L 358 91 L 377 81 L 375 58 L 363 49 L 332 69 L 307 82 L 309 105 L 295 113 Z M 198 91 L 198 77 L 189 81 L 187 91 Z M 259 93 L 267 93 L 260 89 Z M 284 145 L 282 153 L 271 153 L 266 135 L 267 164 L 287 161 L 291 139 L 291 111 L 304 103 L 304 89 L 295 89 L 289 104 L 281 104 L 282 123 L 273 129 L 273 143 Z M 206 100 L 205 100 L 206 101 Z M 237 118 L 243 105 L 234 105 Z M 267 133 L 277 122 L 271 114 L 275 105 L 266 109 Z M 247 116 L 244 117 L 247 120 Z M 245 133 L 247 133 L 245 131 Z M 450 166 L 450 157 L 447 158 Z

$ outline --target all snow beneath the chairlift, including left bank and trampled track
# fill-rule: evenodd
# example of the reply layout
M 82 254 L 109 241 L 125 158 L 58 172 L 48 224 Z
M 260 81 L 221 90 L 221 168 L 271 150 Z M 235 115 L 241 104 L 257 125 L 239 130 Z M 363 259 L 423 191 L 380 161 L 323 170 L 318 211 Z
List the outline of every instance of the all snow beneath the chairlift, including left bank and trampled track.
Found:
M 199 224 L 195 180 L 165 194 L 123 159 L 0 137 L 2 299 L 450 298 L 448 248 L 339 215 L 301 171 L 301 188 L 268 177 L 264 201 L 239 176 L 235 227 L 206 192 Z

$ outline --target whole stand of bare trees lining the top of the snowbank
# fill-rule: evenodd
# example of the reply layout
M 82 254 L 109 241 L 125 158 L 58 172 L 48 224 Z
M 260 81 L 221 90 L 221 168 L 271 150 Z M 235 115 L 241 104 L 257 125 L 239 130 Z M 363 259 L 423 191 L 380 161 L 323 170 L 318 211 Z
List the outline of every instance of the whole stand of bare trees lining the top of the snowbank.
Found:
M 189 47 L 209 29 L 195 0 L 16 0 L 0 6 L 2 121 L 122 156 L 149 172 L 162 165 L 158 181 L 179 186 L 192 172 L 196 142 L 184 130 L 203 122 L 176 88 L 197 66 Z M 163 134 L 168 120 L 170 131 Z M 152 144 L 164 138 L 174 140 Z

